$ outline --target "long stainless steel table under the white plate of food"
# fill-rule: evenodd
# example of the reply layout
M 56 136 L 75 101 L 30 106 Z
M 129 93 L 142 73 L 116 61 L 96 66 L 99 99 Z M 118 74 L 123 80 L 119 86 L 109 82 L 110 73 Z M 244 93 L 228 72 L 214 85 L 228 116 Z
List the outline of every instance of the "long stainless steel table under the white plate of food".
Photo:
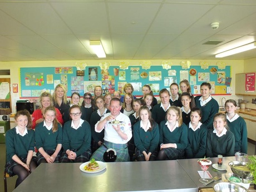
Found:
M 198 192 L 198 186 L 176 160 L 106 163 L 106 170 L 99 173 L 83 173 L 80 165 L 41 164 L 14 191 Z

